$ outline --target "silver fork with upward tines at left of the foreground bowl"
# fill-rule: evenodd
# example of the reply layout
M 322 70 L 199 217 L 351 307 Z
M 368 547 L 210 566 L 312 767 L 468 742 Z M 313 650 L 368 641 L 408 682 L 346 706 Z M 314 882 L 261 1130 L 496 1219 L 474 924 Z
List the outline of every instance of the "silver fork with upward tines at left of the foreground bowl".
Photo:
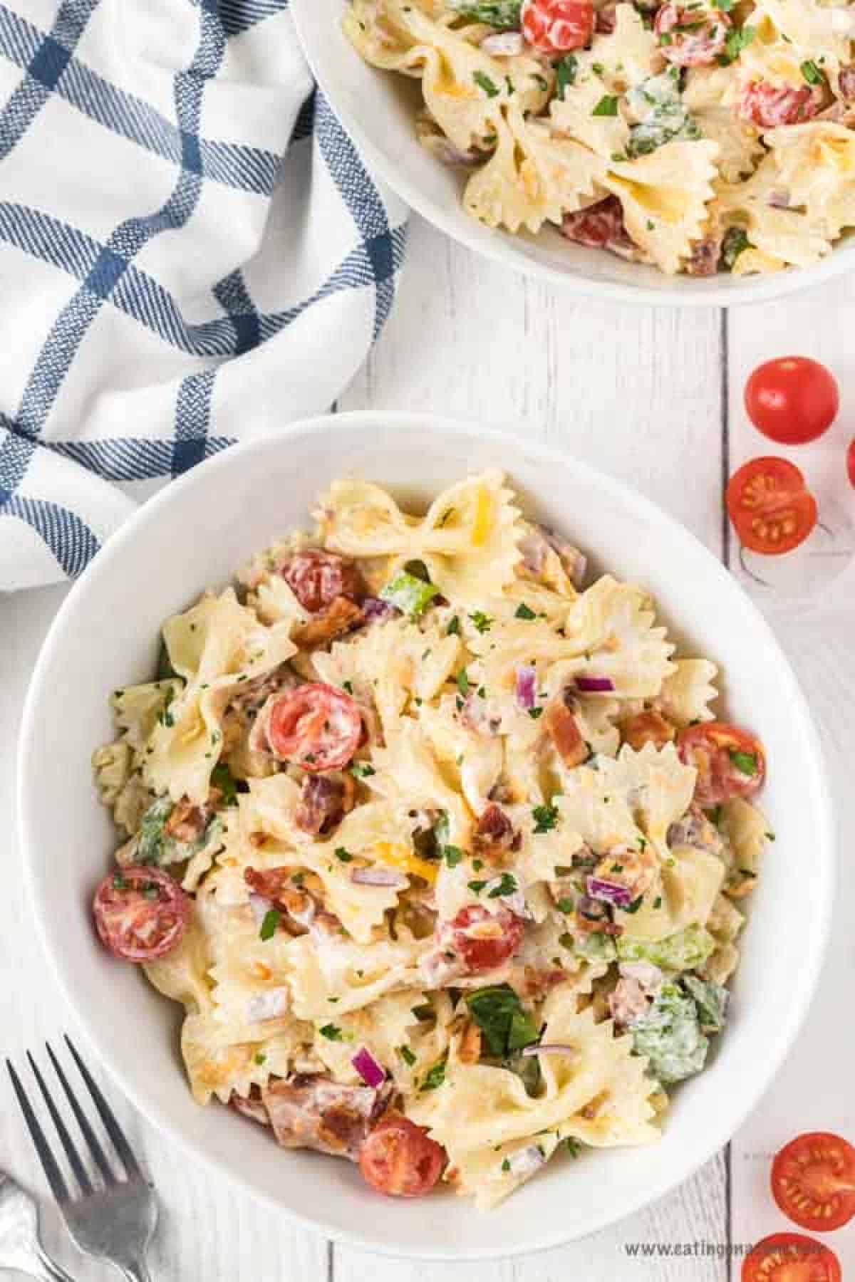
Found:
M 68 1078 L 65 1077 L 65 1073 L 63 1072 L 63 1068 L 50 1046 L 46 1049 L 50 1061 L 54 1065 L 54 1072 L 56 1073 L 60 1086 L 68 1097 L 68 1103 L 83 1140 L 86 1141 L 90 1156 L 101 1173 L 101 1179 L 99 1181 L 100 1187 L 96 1187 L 92 1183 L 92 1179 L 81 1160 L 79 1151 L 68 1133 L 59 1109 L 56 1108 L 45 1079 L 38 1070 L 38 1065 L 29 1051 L 27 1051 L 29 1067 L 33 1072 L 36 1082 L 38 1083 L 38 1090 L 45 1099 L 45 1104 L 47 1105 L 47 1111 L 50 1113 L 56 1135 L 59 1136 L 59 1142 L 63 1146 L 68 1164 L 74 1174 L 74 1179 L 77 1181 L 78 1191 L 69 1192 L 65 1177 L 56 1164 L 50 1145 L 38 1123 L 38 1118 L 27 1099 L 27 1092 L 21 1083 L 21 1078 L 9 1060 L 6 1060 L 6 1068 L 9 1069 L 12 1085 L 15 1095 L 18 1096 L 18 1103 L 21 1104 L 27 1127 L 29 1128 L 29 1135 L 32 1136 L 32 1141 L 36 1146 L 36 1153 L 41 1160 L 51 1192 L 56 1199 L 60 1211 L 63 1213 L 68 1232 L 79 1250 L 86 1255 L 94 1255 L 97 1259 L 109 1260 L 110 1264 L 114 1264 L 117 1269 L 119 1269 L 124 1277 L 129 1279 L 129 1282 L 151 1282 L 151 1274 L 149 1273 L 145 1263 L 145 1253 L 158 1222 L 158 1205 L 154 1197 L 154 1190 L 140 1170 L 137 1160 L 131 1151 L 131 1146 L 126 1140 L 119 1123 L 115 1120 L 113 1110 L 104 1099 L 96 1082 L 86 1068 L 86 1064 L 79 1058 L 68 1037 L 65 1037 L 65 1044 L 72 1053 L 74 1063 L 77 1064 L 79 1074 L 83 1078 L 90 1095 L 92 1096 L 97 1114 L 104 1123 L 104 1129 L 110 1137 L 110 1142 L 122 1165 L 124 1167 L 126 1178 L 120 1179 L 114 1174 L 104 1149 L 90 1126 L 83 1109 L 78 1104 L 77 1096 L 74 1095 Z

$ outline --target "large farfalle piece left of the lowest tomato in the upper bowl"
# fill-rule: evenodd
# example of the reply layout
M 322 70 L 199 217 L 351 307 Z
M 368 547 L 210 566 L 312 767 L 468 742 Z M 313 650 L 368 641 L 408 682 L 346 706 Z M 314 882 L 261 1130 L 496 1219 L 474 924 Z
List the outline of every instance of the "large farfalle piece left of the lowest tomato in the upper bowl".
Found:
M 487 227 L 537 232 L 545 222 L 590 204 L 604 162 L 541 121 L 509 109 L 496 126 L 496 149 L 463 195 L 464 208 Z

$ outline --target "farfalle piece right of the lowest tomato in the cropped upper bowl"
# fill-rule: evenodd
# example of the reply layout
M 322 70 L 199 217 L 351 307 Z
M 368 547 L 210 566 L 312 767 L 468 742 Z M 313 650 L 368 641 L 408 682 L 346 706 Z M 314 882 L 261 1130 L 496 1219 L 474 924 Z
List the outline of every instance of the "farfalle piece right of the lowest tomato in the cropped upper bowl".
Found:
M 602 186 L 623 206 L 633 242 L 669 276 L 704 235 L 717 176 L 717 142 L 674 140 L 626 163 L 613 163 Z

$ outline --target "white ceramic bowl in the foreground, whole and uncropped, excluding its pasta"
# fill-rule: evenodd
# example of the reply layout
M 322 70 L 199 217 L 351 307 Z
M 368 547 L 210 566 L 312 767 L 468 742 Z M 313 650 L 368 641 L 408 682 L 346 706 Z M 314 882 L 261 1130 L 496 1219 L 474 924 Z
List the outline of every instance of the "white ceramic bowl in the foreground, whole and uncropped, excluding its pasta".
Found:
M 526 510 L 577 540 L 596 569 L 647 585 L 685 653 L 722 665 L 727 713 L 767 746 L 763 806 L 777 841 L 745 933 L 729 1027 L 709 1068 L 676 1092 L 661 1142 L 554 1161 L 501 1210 L 477 1213 L 450 1194 L 381 1200 L 349 1163 L 286 1153 L 231 1110 L 194 1104 L 178 1058 L 178 1008 L 112 960 L 91 927 L 90 896 L 114 835 L 95 797 L 90 754 L 112 736 L 108 694 L 154 672 L 162 620 L 304 524 L 335 476 L 361 473 L 427 504 L 440 487 L 496 464 Z M 652 504 L 564 454 L 478 427 L 404 414 L 319 418 L 173 482 L 99 553 L 59 612 L 27 699 L 19 770 L 33 913 L 108 1069 L 196 1158 L 283 1214 L 377 1251 L 461 1259 L 555 1246 L 673 1188 L 728 1140 L 774 1078 L 823 953 L 829 801 L 808 708 L 769 628 L 722 565 Z

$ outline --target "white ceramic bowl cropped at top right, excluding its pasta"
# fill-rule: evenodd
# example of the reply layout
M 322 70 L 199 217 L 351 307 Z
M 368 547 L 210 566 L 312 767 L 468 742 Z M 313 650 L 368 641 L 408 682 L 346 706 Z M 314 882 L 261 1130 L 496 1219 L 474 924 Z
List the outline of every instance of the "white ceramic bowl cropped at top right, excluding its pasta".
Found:
M 510 236 L 482 226 L 463 209 L 465 178 L 436 160 L 415 138 L 415 113 L 422 105 L 418 83 L 363 62 L 341 29 L 345 4 L 346 0 L 291 0 L 291 13 L 320 88 L 369 169 L 410 208 L 469 249 L 577 294 L 678 306 L 760 303 L 855 267 L 855 237 L 850 237 L 814 267 L 768 276 L 673 277 L 602 250 L 572 245 L 551 227 L 538 236 L 528 232 Z

